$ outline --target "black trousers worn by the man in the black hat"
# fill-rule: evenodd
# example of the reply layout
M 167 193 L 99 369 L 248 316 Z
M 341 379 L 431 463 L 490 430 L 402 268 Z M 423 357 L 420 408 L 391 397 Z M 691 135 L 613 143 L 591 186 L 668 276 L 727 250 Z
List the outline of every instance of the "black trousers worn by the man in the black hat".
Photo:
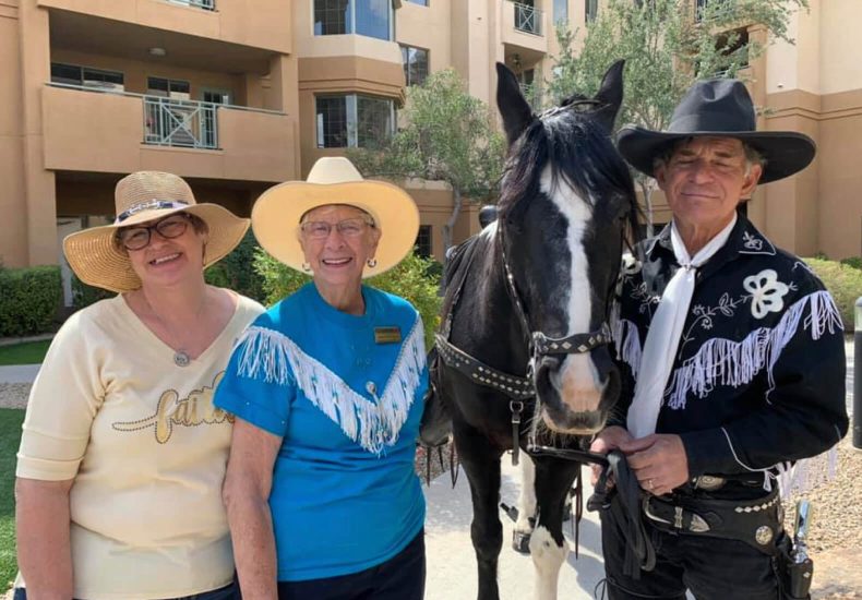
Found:
M 775 560 L 743 541 L 661 531 L 647 519 L 656 568 L 640 572 L 640 579 L 623 575 L 625 539 L 601 513 L 601 543 L 610 600 L 685 600 L 690 590 L 697 600 L 777 600 Z

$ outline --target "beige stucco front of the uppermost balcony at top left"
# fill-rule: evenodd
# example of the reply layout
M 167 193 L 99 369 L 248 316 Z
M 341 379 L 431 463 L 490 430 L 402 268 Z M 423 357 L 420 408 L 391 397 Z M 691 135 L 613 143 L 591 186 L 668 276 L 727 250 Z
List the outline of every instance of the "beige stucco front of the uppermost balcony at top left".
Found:
M 34 0 L 26 0 L 34 1 Z M 216 0 L 215 11 L 164 0 L 38 0 L 39 5 L 290 53 L 289 0 Z

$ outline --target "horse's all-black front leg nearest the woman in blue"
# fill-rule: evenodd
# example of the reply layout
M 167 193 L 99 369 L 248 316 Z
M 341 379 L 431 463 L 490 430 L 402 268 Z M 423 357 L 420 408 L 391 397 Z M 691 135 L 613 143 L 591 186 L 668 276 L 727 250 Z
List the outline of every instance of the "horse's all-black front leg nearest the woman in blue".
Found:
M 479 567 L 479 600 L 499 600 L 496 563 L 503 545 L 500 523 L 500 456 L 488 439 L 469 425 L 455 421 L 455 446 L 470 481 L 472 525 L 470 538 Z

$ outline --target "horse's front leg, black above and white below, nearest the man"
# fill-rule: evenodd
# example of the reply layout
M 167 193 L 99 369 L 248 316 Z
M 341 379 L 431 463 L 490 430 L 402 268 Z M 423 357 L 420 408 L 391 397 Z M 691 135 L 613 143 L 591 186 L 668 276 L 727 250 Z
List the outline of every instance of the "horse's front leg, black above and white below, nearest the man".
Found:
M 568 554 L 563 537 L 566 496 L 580 465 L 539 457 L 535 459 L 538 514 L 530 537 L 530 555 L 536 566 L 535 600 L 556 600 L 560 567 Z

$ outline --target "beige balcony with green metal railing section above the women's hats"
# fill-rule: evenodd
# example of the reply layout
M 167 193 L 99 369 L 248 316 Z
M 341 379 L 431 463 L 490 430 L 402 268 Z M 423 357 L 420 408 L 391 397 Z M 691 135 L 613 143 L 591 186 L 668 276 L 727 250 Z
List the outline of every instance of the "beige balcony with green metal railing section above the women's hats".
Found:
M 296 179 L 296 120 L 284 112 L 47 84 L 45 168 L 276 182 Z

